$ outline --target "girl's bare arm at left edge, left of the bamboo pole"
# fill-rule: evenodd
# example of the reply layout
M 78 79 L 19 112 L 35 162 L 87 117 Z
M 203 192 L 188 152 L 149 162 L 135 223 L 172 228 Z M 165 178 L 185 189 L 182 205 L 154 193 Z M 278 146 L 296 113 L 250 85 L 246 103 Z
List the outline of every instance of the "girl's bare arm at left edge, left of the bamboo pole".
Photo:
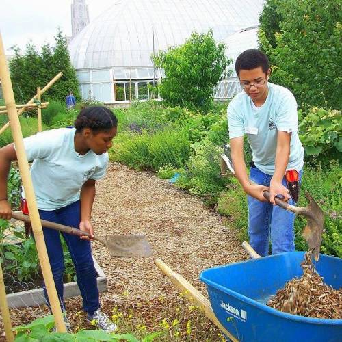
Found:
M 0 148 L 0 218 L 10 220 L 12 216 L 11 205 L 7 198 L 8 172 L 11 162 L 17 160 L 14 144 Z

